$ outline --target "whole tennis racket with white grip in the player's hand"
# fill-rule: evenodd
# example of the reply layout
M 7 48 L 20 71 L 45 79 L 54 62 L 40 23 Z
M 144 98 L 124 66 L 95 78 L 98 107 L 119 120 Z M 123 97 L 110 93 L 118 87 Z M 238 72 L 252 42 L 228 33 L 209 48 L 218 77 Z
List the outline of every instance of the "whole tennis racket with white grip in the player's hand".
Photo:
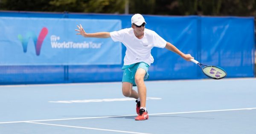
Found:
M 209 78 L 222 79 L 222 78 L 227 76 L 226 71 L 224 69 L 218 67 L 218 66 L 204 65 L 204 64 L 201 64 L 201 63 L 199 63 L 198 61 L 196 61 L 194 59 L 191 59 L 190 61 L 192 61 L 193 63 L 200 66 L 204 75 L 206 75 Z M 202 66 L 204 66 L 204 67 L 202 67 Z

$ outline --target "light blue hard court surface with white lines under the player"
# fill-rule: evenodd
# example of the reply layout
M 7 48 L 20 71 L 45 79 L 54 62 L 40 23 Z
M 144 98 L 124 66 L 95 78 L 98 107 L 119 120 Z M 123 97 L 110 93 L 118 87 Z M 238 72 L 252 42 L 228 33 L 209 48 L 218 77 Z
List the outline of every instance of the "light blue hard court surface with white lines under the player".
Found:
M 256 134 L 256 78 L 145 84 L 144 121 L 121 82 L 0 86 L 0 134 Z

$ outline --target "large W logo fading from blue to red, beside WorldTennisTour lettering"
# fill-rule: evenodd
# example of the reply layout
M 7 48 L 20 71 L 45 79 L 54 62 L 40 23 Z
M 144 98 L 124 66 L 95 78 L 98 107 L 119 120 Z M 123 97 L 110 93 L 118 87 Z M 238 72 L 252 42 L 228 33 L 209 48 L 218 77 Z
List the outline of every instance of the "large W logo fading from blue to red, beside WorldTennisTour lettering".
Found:
M 22 35 L 18 34 L 18 39 L 22 43 L 24 53 L 26 53 L 27 51 L 29 39 L 32 38 L 35 45 L 36 55 L 40 55 L 41 46 L 47 34 L 48 34 L 48 29 L 45 27 L 41 30 L 38 38 L 36 37 L 35 33 L 31 31 L 27 32 L 26 37 L 24 38 L 22 37 Z

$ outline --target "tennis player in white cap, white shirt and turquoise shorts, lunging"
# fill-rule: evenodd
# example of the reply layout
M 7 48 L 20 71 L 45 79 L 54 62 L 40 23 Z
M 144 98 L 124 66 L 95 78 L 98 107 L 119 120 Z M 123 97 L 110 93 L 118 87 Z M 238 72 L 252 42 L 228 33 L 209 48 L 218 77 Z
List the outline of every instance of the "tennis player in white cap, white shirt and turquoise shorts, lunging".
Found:
M 131 97 L 137 99 L 136 111 L 138 116 L 135 120 L 148 119 L 148 112 L 146 111 L 146 86 L 144 80 L 148 79 L 148 68 L 151 63 L 154 62 L 154 58 L 151 55 L 151 49 L 153 47 L 166 48 L 170 51 L 180 55 L 183 59 L 190 61 L 194 59 L 190 54 L 184 54 L 174 45 L 166 42 L 156 32 L 149 29 L 145 29 L 145 19 L 141 14 L 134 14 L 131 17 L 131 28 L 121 29 L 113 32 L 97 32 L 86 33 L 81 26 L 77 26 L 79 29 L 79 35 L 83 37 L 96 37 L 96 38 L 108 38 L 111 37 L 113 41 L 122 42 L 126 47 L 124 70 L 122 77 L 122 93 L 125 97 Z M 138 93 L 132 89 L 133 86 L 137 86 Z

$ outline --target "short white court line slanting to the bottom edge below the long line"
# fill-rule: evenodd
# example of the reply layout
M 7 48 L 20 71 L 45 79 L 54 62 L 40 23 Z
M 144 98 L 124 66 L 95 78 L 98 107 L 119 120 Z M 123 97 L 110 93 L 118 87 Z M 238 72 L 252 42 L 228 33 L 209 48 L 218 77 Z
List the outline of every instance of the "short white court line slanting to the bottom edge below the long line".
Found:
M 26 122 L 26 123 L 33 123 L 33 122 Z M 130 134 L 148 134 L 148 133 L 139 133 L 139 132 L 131 132 L 131 131 L 119 131 L 119 130 L 101 129 L 101 128 L 78 127 L 78 126 L 72 126 L 72 125 L 58 125 L 58 124 L 48 124 L 48 123 L 35 123 L 35 124 L 56 125 L 56 126 L 63 126 L 63 127 L 69 127 L 69 128 L 83 128 L 83 129 L 93 129 L 93 130 L 102 130 L 102 131 L 114 131 L 114 132 L 130 133 Z

